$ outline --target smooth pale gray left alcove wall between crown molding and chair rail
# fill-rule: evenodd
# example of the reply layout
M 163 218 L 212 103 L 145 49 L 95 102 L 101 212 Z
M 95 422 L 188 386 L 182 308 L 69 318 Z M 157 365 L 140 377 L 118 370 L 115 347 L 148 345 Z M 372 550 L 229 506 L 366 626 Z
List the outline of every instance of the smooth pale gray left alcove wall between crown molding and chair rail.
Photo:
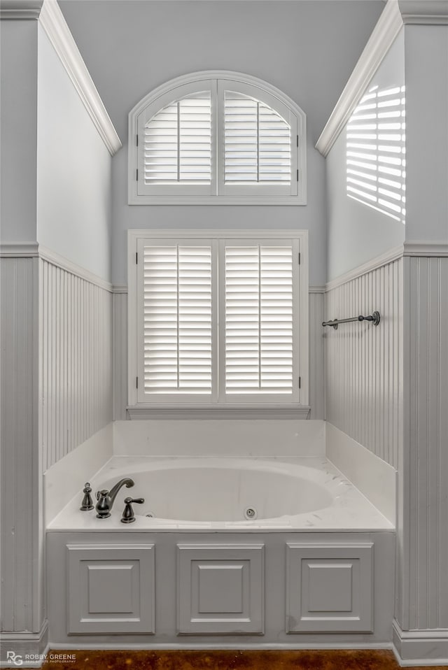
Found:
M 37 240 L 111 279 L 111 155 L 38 27 Z

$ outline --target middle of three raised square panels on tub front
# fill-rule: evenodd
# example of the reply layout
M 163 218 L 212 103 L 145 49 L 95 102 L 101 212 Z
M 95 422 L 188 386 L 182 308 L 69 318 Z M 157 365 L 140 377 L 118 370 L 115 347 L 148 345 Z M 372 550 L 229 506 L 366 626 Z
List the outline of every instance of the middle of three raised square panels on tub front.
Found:
M 178 544 L 178 633 L 264 632 L 264 544 Z

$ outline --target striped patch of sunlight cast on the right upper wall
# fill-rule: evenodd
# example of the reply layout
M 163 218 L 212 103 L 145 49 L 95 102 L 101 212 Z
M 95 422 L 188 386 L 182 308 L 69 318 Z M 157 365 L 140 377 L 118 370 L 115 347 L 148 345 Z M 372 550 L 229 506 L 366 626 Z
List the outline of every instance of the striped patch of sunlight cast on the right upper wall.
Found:
M 347 195 L 404 223 L 405 165 L 405 87 L 373 87 L 346 127 Z

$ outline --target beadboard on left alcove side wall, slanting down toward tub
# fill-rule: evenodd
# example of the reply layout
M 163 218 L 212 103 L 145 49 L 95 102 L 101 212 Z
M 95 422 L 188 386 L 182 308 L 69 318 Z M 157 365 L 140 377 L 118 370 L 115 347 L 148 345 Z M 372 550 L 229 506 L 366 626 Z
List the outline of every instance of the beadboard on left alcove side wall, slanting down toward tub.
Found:
M 112 420 L 112 294 L 40 259 L 43 471 Z

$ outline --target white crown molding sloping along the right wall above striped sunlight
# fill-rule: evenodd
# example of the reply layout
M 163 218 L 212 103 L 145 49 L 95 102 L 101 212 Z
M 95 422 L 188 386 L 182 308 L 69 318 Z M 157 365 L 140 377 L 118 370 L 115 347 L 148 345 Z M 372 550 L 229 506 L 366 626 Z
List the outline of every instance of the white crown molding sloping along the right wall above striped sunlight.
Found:
M 316 149 L 325 157 L 337 136 L 349 120 L 372 76 L 377 71 L 389 48 L 402 28 L 403 22 L 397 0 L 388 0 L 369 41 L 360 55 L 339 100 L 325 124 Z

